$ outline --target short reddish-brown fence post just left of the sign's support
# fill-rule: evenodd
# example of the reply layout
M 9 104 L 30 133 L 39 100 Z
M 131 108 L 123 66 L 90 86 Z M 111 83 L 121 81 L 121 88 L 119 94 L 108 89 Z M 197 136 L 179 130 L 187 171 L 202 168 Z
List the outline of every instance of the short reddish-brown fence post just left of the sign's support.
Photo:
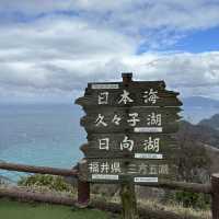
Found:
M 77 207 L 87 208 L 90 203 L 90 183 L 78 178 L 78 203 Z

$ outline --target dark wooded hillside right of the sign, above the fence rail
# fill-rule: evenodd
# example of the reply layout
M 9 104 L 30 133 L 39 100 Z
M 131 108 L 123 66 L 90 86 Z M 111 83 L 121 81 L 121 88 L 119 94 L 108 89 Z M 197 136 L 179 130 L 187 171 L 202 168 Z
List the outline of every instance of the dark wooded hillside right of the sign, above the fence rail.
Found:
M 215 152 L 219 148 L 219 130 L 203 124 L 181 122 L 175 138 L 181 150 L 180 180 L 197 183 L 208 181 L 219 163 L 219 153 Z

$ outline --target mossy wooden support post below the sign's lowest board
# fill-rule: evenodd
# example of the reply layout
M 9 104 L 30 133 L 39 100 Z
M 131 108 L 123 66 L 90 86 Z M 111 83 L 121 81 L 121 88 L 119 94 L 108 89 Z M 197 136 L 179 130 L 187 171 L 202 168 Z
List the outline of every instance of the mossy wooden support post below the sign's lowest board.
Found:
M 130 182 L 120 185 L 120 200 L 123 219 L 139 219 L 135 185 Z

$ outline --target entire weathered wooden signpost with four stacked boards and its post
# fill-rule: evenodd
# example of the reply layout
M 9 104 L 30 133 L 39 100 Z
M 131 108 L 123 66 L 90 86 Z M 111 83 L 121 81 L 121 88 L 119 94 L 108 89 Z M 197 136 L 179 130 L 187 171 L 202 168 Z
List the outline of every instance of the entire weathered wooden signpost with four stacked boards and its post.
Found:
M 76 103 L 85 116 L 81 125 L 88 143 L 79 164 L 80 181 L 122 184 L 123 216 L 138 218 L 135 184 L 171 181 L 177 172 L 178 93 L 165 90 L 163 81 L 89 83 Z

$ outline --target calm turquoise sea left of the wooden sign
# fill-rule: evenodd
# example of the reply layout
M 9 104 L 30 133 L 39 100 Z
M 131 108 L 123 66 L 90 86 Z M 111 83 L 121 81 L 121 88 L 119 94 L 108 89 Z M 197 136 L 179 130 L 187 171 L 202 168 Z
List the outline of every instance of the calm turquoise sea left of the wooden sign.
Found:
M 82 111 L 74 105 L 0 105 L 0 160 L 33 165 L 71 168 L 85 142 Z M 1 171 L 16 181 L 20 173 Z

